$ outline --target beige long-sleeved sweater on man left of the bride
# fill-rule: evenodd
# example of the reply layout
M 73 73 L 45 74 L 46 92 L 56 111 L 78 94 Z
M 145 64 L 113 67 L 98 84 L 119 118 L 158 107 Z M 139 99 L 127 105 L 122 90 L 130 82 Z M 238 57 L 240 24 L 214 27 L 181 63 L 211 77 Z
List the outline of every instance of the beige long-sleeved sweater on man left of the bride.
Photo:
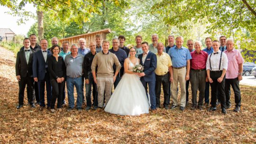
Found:
M 97 66 L 97 77 L 113 77 L 113 64 L 116 64 L 116 72 L 121 69 L 121 64 L 117 56 L 113 53 L 103 54 L 102 51 L 97 53 L 91 63 L 91 71 L 95 72 Z

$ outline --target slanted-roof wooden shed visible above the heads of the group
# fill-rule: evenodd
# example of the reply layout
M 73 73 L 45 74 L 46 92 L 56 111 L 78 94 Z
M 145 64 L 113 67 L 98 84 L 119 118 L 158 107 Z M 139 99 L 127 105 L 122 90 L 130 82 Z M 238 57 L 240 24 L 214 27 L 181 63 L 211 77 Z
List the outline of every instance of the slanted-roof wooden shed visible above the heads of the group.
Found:
M 84 38 L 86 40 L 86 47 L 88 47 L 90 42 L 95 41 L 95 36 L 97 34 L 100 34 L 102 36 L 102 39 L 104 40 L 104 39 L 106 39 L 106 35 L 109 33 L 111 33 L 111 30 L 108 28 L 108 29 L 103 29 L 103 30 L 99 30 L 96 32 L 87 33 L 87 34 L 62 38 L 59 40 L 59 43 L 60 43 L 60 45 L 62 45 L 62 43 L 64 41 L 68 41 L 70 43 L 70 45 L 72 45 L 72 44 L 78 45 L 78 40 L 80 38 Z

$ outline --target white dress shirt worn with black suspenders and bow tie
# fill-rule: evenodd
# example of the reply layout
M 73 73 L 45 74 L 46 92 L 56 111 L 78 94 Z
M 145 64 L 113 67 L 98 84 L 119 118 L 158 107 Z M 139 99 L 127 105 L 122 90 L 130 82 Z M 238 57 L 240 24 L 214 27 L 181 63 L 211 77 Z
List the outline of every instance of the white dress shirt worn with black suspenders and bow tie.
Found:
M 218 53 L 218 54 L 215 54 L 215 53 Z M 206 62 L 206 70 L 222 71 L 223 69 L 225 70 L 228 69 L 228 57 L 224 52 L 222 52 L 222 58 L 221 58 L 220 69 L 219 69 L 220 54 L 221 54 L 221 51 L 219 50 L 218 52 L 213 52 L 208 56 L 207 62 Z M 211 69 L 210 69 L 210 64 L 211 64 Z

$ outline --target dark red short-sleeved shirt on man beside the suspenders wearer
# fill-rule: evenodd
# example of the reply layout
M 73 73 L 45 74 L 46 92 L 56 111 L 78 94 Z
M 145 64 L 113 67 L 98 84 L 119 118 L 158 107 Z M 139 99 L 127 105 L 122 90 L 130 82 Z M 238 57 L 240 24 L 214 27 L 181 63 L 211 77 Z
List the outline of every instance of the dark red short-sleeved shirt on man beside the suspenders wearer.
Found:
M 190 53 L 192 59 L 190 60 L 191 69 L 201 70 L 206 68 L 208 54 L 205 51 L 200 51 L 199 54 L 194 50 Z

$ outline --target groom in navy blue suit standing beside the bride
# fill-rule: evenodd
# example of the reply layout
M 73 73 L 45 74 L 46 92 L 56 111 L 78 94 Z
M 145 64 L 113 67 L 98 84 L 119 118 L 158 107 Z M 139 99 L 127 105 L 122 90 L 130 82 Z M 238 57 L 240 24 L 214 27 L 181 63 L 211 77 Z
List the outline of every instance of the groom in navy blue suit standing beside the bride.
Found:
M 139 73 L 140 81 L 142 82 L 147 96 L 147 84 L 149 87 L 149 97 L 151 110 L 156 109 L 155 99 L 155 68 L 156 68 L 156 55 L 148 50 L 148 43 L 141 43 L 143 53 L 138 55 L 140 64 L 144 66 L 144 72 Z M 148 96 L 147 96 L 148 98 Z

